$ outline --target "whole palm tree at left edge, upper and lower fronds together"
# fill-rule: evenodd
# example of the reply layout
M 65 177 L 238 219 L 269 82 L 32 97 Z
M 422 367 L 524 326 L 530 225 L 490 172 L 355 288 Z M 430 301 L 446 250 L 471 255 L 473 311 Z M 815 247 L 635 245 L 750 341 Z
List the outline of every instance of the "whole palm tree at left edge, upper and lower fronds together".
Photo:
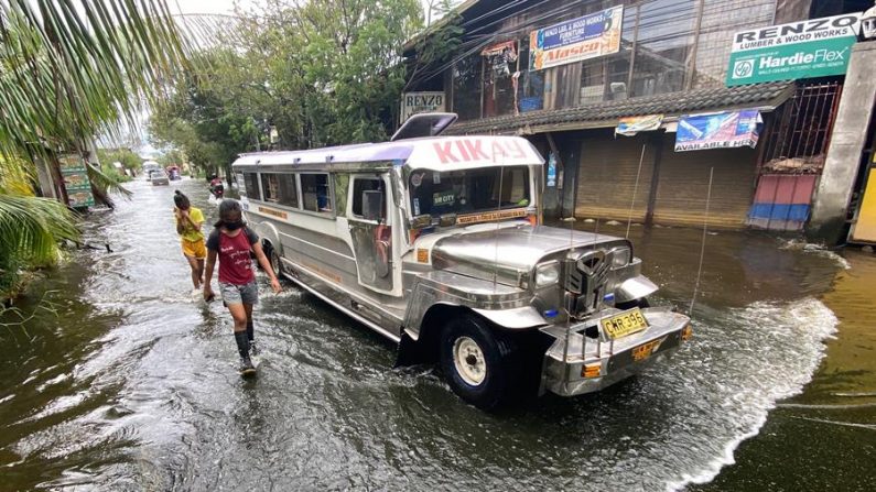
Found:
M 0 2 L 0 258 L 42 263 L 75 236 L 67 208 L 22 187 L 41 161 L 136 125 L 185 66 L 165 0 Z M 0 276 L 3 269 L 0 264 Z

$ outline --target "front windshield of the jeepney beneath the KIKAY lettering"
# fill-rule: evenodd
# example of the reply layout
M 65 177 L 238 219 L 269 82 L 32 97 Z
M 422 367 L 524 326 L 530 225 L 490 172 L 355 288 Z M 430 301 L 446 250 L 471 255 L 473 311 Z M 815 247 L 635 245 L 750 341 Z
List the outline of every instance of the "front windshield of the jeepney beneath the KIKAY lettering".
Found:
M 408 186 L 414 216 L 475 214 L 526 207 L 531 203 L 527 166 L 417 170 L 408 177 Z

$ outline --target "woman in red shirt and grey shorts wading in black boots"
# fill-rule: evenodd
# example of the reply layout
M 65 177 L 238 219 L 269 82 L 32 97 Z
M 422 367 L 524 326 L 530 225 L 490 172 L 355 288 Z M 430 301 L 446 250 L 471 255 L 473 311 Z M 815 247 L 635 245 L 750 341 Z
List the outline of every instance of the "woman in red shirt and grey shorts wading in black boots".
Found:
M 250 356 L 257 353 L 252 306 L 259 302 L 259 288 L 256 284 L 256 273 L 252 271 L 250 251 L 256 253 L 259 264 L 271 278 L 273 292 L 279 293 L 280 282 L 264 256 L 259 237 L 244 222 L 240 204 L 237 200 L 226 199 L 219 205 L 219 221 L 207 239 L 204 299 L 210 300 L 214 296 L 210 280 L 218 258 L 219 293 L 235 321 L 235 341 L 240 353 L 240 373 L 244 375 L 256 372 Z

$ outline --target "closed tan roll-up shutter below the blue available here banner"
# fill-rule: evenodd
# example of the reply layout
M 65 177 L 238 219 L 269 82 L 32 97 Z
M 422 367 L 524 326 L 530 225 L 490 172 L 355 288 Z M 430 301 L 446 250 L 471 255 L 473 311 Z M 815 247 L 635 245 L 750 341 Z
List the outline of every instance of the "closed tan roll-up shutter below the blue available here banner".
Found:
M 653 221 L 702 225 L 714 167 L 710 226 L 743 228 L 751 206 L 757 176 L 757 150 L 721 149 L 674 152 L 674 133 L 663 142 Z

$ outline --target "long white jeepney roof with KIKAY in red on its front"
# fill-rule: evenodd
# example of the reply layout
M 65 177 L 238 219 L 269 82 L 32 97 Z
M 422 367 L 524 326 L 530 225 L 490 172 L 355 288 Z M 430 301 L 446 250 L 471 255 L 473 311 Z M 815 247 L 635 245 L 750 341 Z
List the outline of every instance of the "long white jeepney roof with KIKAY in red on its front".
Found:
M 520 136 L 431 136 L 307 151 L 240 154 L 235 166 L 389 162 L 411 168 L 456 171 L 485 165 L 541 165 L 544 160 Z M 311 166 L 309 166 L 311 167 Z

